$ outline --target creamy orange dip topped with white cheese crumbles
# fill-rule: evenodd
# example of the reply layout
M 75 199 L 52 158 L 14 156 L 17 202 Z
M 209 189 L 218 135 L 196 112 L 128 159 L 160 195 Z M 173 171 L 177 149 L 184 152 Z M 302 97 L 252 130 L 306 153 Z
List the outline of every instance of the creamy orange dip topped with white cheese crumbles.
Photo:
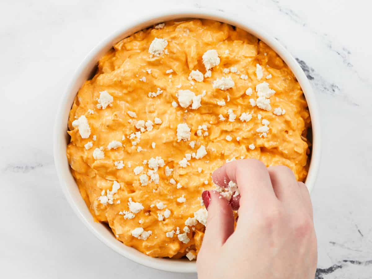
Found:
M 170 21 L 99 60 L 70 111 L 67 158 L 93 217 L 119 241 L 193 259 L 212 172 L 257 158 L 304 181 L 308 127 L 301 87 L 264 42 L 212 20 Z

